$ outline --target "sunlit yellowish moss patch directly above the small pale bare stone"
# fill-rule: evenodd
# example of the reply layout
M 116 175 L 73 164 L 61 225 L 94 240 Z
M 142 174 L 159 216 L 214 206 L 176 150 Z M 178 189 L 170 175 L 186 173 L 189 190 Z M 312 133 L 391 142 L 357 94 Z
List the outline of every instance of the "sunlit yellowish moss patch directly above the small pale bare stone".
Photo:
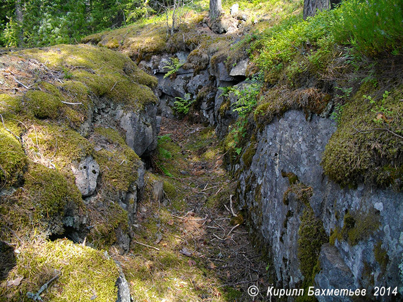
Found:
M 56 168 L 70 168 L 93 154 L 93 145 L 78 132 L 49 123 L 32 124 L 27 131 L 27 153 L 31 160 Z

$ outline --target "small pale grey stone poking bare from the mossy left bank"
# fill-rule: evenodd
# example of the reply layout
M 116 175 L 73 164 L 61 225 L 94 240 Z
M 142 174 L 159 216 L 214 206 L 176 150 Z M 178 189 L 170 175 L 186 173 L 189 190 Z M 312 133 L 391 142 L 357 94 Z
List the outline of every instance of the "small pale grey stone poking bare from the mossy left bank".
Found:
M 87 156 L 80 163 L 73 164 L 72 171 L 76 178 L 76 186 L 83 197 L 94 194 L 97 187 L 99 165 L 92 156 Z

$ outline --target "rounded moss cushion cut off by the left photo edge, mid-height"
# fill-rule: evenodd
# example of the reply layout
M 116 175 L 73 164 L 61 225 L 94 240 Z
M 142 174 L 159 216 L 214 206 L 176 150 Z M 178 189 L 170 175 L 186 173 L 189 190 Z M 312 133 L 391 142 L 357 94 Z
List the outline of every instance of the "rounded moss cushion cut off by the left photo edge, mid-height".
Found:
M 22 177 L 27 156 L 21 143 L 3 126 L 0 127 L 0 187 L 8 187 Z

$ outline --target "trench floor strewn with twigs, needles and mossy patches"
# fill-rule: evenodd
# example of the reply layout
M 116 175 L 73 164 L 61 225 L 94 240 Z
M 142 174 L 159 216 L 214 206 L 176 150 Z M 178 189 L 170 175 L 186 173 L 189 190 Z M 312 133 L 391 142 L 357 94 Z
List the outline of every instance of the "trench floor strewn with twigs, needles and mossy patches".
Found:
M 247 293 L 251 285 L 267 288 L 267 262 L 231 206 L 235 181 L 223 169 L 222 156 L 213 128 L 163 119 L 158 168 L 146 173 L 146 182 L 152 188 L 163 181 L 164 199 L 155 201 L 146 190 L 130 253 L 115 255 L 133 300 L 266 300 L 264 293 Z

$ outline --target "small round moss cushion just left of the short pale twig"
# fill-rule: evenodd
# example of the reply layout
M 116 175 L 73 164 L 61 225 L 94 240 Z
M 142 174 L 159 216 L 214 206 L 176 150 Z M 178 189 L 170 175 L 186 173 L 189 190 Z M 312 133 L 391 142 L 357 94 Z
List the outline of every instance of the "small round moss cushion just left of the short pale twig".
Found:
M 62 105 L 57 96 L 43 91 L 27 91 L 26 104 L 37 118 L 56 118 Z

